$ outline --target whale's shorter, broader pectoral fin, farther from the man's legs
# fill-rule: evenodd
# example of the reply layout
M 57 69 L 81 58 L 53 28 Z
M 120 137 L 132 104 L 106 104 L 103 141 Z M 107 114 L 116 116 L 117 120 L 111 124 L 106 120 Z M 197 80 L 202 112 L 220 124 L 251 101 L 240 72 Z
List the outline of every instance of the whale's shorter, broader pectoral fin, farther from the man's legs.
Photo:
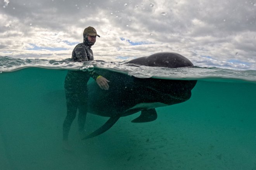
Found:
M 157 113 L 156 109 L 148 109 L 148 110 L 142 110 L 139 117 L 136 119 L 133 119 L 131 122 L 133 123 L 144 123 L 144 122 L 151 122 L 156 120 Z

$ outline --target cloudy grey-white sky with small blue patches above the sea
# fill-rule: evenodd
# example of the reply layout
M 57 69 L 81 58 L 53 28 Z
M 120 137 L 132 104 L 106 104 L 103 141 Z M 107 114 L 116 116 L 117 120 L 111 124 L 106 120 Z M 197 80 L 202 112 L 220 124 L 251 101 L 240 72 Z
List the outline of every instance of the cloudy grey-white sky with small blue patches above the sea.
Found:
M 83 30 L 94 59 L 175 52 L 195 66 L 256 70 L 256 0 L 0 0 L 0 56 L 71 58 Z

